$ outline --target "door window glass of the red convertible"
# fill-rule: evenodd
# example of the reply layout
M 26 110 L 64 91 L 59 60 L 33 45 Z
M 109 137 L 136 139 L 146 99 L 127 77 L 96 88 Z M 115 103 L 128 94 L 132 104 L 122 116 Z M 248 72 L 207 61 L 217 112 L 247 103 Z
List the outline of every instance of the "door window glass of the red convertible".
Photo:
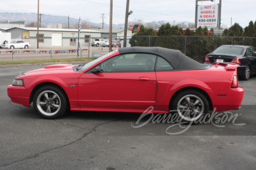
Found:
M 100 64 L 102 73 L 154 71 L 156 55 L 127 53 L 108 59 Z

